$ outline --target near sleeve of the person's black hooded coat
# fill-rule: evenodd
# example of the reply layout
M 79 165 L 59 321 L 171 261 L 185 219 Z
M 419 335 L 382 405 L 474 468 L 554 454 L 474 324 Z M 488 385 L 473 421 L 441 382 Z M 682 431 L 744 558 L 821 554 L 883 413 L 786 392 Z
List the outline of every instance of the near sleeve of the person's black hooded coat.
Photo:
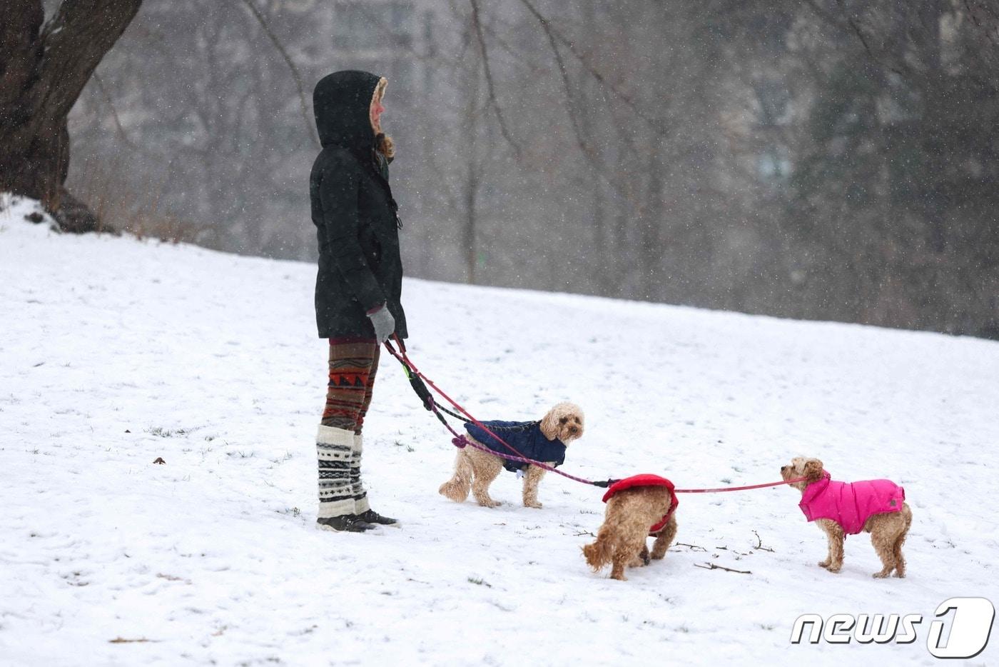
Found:
M 359 241 L 360 177 L 361 172 L 353 156 L 334 155 L 328 168 L 323 170 L 319 194 L 323 205 L 323 225 L 326 227 L 326 252 L 344 276 L 353 296 L 365 310 L 371 310 L 385 303 L 386 297 Z

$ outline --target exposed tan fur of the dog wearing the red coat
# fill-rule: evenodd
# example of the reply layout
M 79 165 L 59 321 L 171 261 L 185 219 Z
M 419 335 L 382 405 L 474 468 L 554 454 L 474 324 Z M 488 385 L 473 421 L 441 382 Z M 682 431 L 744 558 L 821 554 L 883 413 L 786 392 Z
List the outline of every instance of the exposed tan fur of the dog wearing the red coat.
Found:
M 625 567 L 641 567 L 648 565 L 650 559 L 665 556 L 676 537 L 675 512 L 656 536 L 651 554 L 645 538 L 649 526 L 661 521 L 669 511 L 669 502 L 669 490 L 661 486 L 638 486 L 615 493 L 607 501 L 596 541 L 582 547 L 582 555 L 593 572 L 610 563 L 610 578 L 627 581 Z

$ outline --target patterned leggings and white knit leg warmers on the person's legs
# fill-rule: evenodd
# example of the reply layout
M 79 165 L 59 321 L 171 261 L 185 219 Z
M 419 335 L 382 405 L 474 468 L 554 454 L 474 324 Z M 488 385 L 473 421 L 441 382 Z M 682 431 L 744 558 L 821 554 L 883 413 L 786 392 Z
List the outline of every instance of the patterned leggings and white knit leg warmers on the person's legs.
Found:
M 370 508 L 361 483 L 361 430 L 372 402 L 379 353 L 374 340 L 330 340 L 330 382 L 316 436 L 320 518 Z

